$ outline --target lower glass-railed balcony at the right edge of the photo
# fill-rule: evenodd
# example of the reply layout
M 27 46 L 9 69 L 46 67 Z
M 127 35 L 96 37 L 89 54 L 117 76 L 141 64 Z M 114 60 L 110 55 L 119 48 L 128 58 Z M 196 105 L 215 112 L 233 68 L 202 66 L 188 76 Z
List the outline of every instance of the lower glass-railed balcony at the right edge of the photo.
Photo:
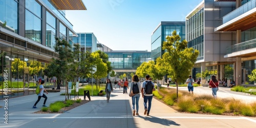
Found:
M 253 50 L 254 48 L 256 48 L 256 39 L 252 39 L 252 40 L 248 40 L 245 42 L 241 42 L 239 44 L 236 45 L 232 45 L 227 47 L 227 54 L 234 54 L 235 52 L 240 52 L 240 53 L 236 53 L 234 55 L 231 56 L 240 56 L 240 57 L 250 57 L 250 56 L 255 56 L 255 50 Z M 252 50 L 250 50 L 252 49 Z M 243 51 L 246 50 L 246 51 Z M 243 51 L 243 52 L 242 52 Z M 229 56 L 229 57 L 231 57 Z

